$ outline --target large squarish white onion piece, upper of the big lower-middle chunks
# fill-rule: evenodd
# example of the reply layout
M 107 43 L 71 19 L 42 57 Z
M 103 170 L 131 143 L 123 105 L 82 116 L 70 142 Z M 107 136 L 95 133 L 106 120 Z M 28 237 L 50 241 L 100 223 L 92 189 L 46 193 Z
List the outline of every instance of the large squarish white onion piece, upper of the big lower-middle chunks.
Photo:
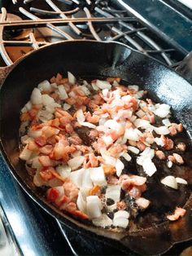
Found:
M 107 185 L 107 181 L 105 178 L 103 167 L 95 167 L 95 168 L 89 168 L 90 172 L 90 179 L 94 183 L 94 185 L 98 186 L 105 186 Z

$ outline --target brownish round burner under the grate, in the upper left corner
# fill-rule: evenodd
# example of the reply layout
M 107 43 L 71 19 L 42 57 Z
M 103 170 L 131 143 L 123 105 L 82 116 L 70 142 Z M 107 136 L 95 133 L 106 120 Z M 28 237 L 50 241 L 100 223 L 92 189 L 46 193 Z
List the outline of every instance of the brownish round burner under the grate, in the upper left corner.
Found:
M 0 14 L 1 19 L 2 14 Z M 7 21 L 20 21 L 22 20 L 20 16 L 7 13 Z M 28 39 L 29 33 L 32 33 L 33 29 L 11 29 L 11 30 L 4 30 L 3 39 L 4 40 L 26 40 Z

